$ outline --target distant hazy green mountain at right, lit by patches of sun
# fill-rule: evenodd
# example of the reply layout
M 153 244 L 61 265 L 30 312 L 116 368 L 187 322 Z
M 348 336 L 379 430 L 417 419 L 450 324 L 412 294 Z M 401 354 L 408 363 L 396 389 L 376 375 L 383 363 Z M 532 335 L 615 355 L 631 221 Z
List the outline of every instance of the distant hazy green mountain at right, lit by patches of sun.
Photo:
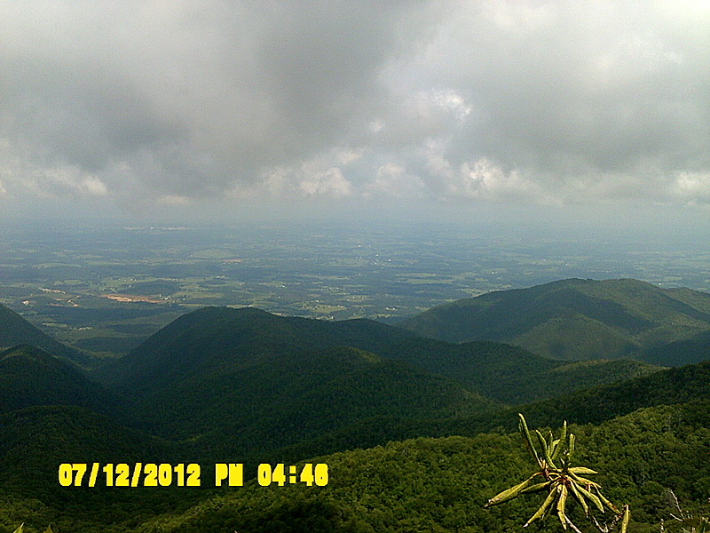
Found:
M 455 301 L 400 324 L 449 342 L 495 340 L 557 359 L 613 359 L 710 331 L 710 294 L 636 280 L 564 280 Z M 653 362 L 673 366 L 672 353 Z

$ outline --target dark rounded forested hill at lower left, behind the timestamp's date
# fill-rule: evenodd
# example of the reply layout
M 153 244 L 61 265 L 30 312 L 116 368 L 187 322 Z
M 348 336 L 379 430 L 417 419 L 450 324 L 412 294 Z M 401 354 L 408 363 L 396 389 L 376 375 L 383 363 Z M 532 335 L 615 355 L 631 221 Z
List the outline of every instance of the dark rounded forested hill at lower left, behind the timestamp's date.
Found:
M 131 491 L 118 495 L 97 488 L 89 490 L 88 482 L 83 488 L 61 487 L 58 471 L 62 463 L 177 463 L 189 458 L 175 443 L 80 407 L 51 405 L 13 410 L 0 415 L 0 426 L 0 489 L 5 495 L 41 501 L 40 510 L 44 505 L 54 507 L 55 520 L 56 509 L 67 505 L 80 509 L 91 520 L 102 506 L 116 504 L 118 508 L 128 505 L 126 496 L 131 497 L 129 501 L 138 497 Z

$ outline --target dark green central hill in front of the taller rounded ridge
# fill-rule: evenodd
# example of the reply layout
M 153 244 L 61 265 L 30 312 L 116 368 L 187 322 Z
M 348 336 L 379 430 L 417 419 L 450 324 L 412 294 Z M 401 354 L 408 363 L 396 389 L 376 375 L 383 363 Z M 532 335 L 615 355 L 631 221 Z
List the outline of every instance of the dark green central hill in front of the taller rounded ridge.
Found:
M 446 418 L 495 407 L 451 379 L 351 347 L 188 372 L 133 400 L 140 427 L 212 455 L 246 458 L 367 418 Z

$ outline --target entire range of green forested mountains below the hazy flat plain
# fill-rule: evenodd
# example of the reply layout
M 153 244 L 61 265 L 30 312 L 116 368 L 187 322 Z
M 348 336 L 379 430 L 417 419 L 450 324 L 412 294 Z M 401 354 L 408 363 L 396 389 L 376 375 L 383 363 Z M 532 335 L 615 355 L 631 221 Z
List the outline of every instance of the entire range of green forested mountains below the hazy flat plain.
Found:
M 434 475 L 432 468 L 451 486 L 434 483 L 439 492 L 408 508 L 412 528 L 417 523 L 434 531 L 478 530 L 466 529 L 470 524 L 461 515 L 436 518 L 437 513 L 448 507 L 461 513 L 461 502 L 471 501 L 460 489 L 469 478 L 455 470 L 463 467 L 461 461 L 471 462 L 477 476 L 524 467 L 524 456 L 517 451 L 500 451 L 517 442 L 505 434 L 515 431 L 518 411 L 538 426 L 557 426 L 562 419 L 594 425 L 577 426 L 577 431 L 599 447 L 597 456 L 585 453 L 603 465 L 616 460 L 614 449 L 603 445 L 604 435 L 645 420 L 653 422 L 634 430 L 639 440 L 670 442 L 672 451 L 665 453 L 691 460 L 704 452 L 703 432 L 710 426 L 702 414 L 710 405 L 710 362 L 700 362 L 707 359 L 703 335 L 710 331 L 708 326 L 703 332 L 701 320 L 707 295 L 646 285 L 568 280 L 530 289 L 532 293 L 492 293 L 488 304 L 479 297 L 483 304 L 470 304 L 478 299 L 473 298 L 451 306 L 459 312 L 451 317 L 452 331 L 468 327 L 464 316 L 494 331 L 493 318 L 509 309 L 509 323 L 517 324 L 512 330 L 525 337 L 523 325 L 532 324 L 525 337 L 532 338 L 533 330 L 553 335 L 548 322 L 554 322 L 552 312 L 566 301 L 564 309 L 587 310 L 586 318 L 574 323 L 596 321 L 596 332 L 604 330 L 603 324 L 618 338 L 628 335 L 635 347 L 625 353 L 637 360 L 620 358 L 620 353 L 613 359 L 595 358 L 598 343 L 589 343 L 584 357 L 577 346 L 579 356 L 568 359 L 579 360 L 570 361 L 494 339 L 437 339 L 413 326 L 436 322 L 443 331 L 443 317 L 452 313 L 448 306 L 414 317 L 403 324 L 406 328 L 366 319 L 326 322 L 249 307 L 206 307 L 179 317 L 121 359 L 86 371 L 65 352 L 53 352 L 57 346 L 32 346 L 32 339 L 43 337 L 37 337 L 33 326 L 22 325 L 19 315 L 0 315 L 9 316 L 5 330 L 28 332 L 19 337 L 24 344 L 0 352 L 0 495 L 16 502 L 0 511 L 0 530 L 12 531 L 21 521 L 29 522 L 29 531 L 43 530 L 49 522 L 59 531 L 78 530 L 77 524 L 83 531 L 120 524 L 112 529 L 117 533 L 193 531 L 206 525 L 252 532 L 408 530 L 402 529 L 406 518 L 385 508 L 390 498 L 378 495 L 382 490 L 409 494 L 407 483 L 425 494 L 433 482 L 426 477 Z M 659 308 L 661 304 L 666 307 Z M 469 313 L 471 308 L 475 312 Z M 543 308 L 549 311 L 547 320 L 542 320 Z M 440 314 L 442 309 L 445 314 Z M 678 329 L 661 323 L 663 316 L 675 320 Z M 0 331 L 3 327 L 0 322 Z M 471 328 L 485 330 L 480 325 Z M 682 354 L 676 363 L 695 364 L 667 369 L 650 363 L 669 366 L 670 354 Z M 683 440 L 686 427 L 695 441 Z M 429 440 L 406 441 L 422 437 Z M 662 451 L 644 448 L 651 444 L 628 446 L 624 453 L 629 457 L 642 457 L 635 458 L 636 465 L 647 464 Z M 496 449 L 505 461 L 485 458 Z M 264 493 L 259 499 L 252 487 L 253 497 L 235 493 L 236 499 L 228 501 L 219 500 L 222 496 L 208 499 L 214 490 L 209 485 L 203 490 L 67 489 L 59 487 L 56 472 L 57 465 L 66 462 L 198 462 L 205 465 L 204 477 L 209 479 L 209 465 L 215 462 L 243 462 L 249 472 L 256 472 L 262 462 L 296 464 L 323 454 L 335 455 L 311 462 L 327 462 L 334 469 L 333 489 L 323 491 L 326 499 L 313 499 L 312 493 L 296 488 Z M 446 457 L 459 458 L 450 464 Z M 484 458 L 492 461 L 487 470 L 480 462 Z M 386 489 L 377 488 L 388 462 L 396 477 L 385 483 Z M 376 476 L 370 489 L 358 468 Z M 642 487 L 638 483 L 643 479 L 658 484 L 664 475 L 671 479 L 662 469 L 649 470 L 643 478 L 629 465 L 619 468 L 620 477 L 611 479 L 622 486 L 634 482 Z M 698 488 L 703 476 L 706 469 L 701 467 L 675 481 L 690 505 L 702 499 Z M 500 484 L 491 481 L 489 489 Z M 658 491 L 655 485 L 646 486 L 651 489 L 653 494 Z M 369 493 L 375 498 L 369 504 L 363 496 L 367 490 L 375 491 Z M 644 500 L 640 490 L 627 489 L 626 494 L 647 514 L 639 520 L 657 525 L 659 507 Z M 378 509 L 372 517 L 363 510 L 368 506 Z M 216 511 L 223 507 L 225 513 Z M 227 509 L 241 513 L 243 520 L 234 521 Z M 519 513 L 513 509 L 513 515 Z M 294 518 L 298 516 L 300 521 Z M 509 527 L 507 519 L 496 516 L 493 522 L 477 521 L 488 524 L 485 530 Z M 273 525 L 289 517 L 300 525 Z M 495 523 L 502 529 L 490 529 Z

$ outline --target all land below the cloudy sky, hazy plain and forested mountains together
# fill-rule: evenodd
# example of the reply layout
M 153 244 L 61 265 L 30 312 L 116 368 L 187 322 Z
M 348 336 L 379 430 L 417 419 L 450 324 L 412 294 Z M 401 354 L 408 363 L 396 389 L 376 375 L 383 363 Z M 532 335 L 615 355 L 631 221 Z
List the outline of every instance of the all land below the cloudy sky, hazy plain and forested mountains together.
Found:
M 543 432 L 570 424 L 630 530 L 658 531 L 669 489 L 707 514 L 697 253 L 675 243 L 671 267 L 628 243 L 595 259 L 564 239 L 369 231 L 8 235 L 0 531 L 517 530 L 533 497 L 483 505 L 531 467 L 518 412 Z M 243 465 L 244 485 L 215 486 L 217 463 Z M 65 487 L 62 464 L 201 465 L 202 482 Z M 327 482 L 262 486 L 259 465 L 276 480 L 327 465 Z

